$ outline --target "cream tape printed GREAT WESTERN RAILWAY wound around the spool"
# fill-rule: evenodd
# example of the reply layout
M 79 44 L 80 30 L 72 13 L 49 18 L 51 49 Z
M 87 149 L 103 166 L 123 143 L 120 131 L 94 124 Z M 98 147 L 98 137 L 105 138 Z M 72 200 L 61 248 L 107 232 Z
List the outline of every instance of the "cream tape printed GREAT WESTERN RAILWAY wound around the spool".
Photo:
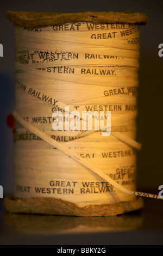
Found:
M 139 26 L 110 26 L 15 27 L 16 197 L 79 206 L 158 198 L 135 192 Z M 52 114 L 64 119 L 65 107 L 80 117 L 110 111 L 111 135 L 94 123 L 91 131 L 54 131 Z

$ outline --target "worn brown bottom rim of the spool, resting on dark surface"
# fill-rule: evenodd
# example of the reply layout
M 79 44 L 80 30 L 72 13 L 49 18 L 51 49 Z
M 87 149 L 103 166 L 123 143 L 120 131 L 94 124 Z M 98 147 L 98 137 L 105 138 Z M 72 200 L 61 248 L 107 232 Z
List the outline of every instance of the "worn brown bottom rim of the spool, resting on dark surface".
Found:
M 143 208 L 142 198 L 102 205 L 87 205 L 80 208 L 76 204 L 55 198 L 21 199 L 14 196 L 4 198 L 7 211 L 21 214 L 43 214 L 64 216 L 115 216 Z

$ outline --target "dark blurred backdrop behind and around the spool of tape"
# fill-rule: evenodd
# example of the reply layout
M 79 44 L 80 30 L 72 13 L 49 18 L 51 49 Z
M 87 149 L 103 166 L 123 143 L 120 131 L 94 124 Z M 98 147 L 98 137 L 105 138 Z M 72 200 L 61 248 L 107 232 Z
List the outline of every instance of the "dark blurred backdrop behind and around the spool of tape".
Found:
M 163 57 L 158 46 L 163 43 L 163 1 L 3 1 L 0 10 L 0 35 L 4 57 L 0 57 L 0 185 L 4 196 L 12 193 L 14 179 L 14 143 L 12 131 L 6 124 L 12 112 L 14 99 L 14 32 L 12 22 L 5 19 L 7 10 L 69 12 L 119 11 L 149 15 L 149 23 L 141 26 L 140 33 L 140 86 L 138 97 L 137 141 L 142 149 L 137 153 L 137 190 L 158 194 L 163 184 L 162 169 L 162 67 Z

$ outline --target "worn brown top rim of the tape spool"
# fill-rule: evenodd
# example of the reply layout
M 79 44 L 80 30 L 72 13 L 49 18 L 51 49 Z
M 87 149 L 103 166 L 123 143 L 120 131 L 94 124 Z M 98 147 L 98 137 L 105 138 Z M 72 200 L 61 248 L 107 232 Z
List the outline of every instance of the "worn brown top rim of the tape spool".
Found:
M 148 15 L 143 13 L 114 13 L 113 11 L 86 11 L 84 13 L 39 13 L 26 11 L 7 11 L 6 17 L 15 25 L 28 28 L 63 25 L 67 22 L 91 22 L 91 23 L 139 23 L 146 25 Z

